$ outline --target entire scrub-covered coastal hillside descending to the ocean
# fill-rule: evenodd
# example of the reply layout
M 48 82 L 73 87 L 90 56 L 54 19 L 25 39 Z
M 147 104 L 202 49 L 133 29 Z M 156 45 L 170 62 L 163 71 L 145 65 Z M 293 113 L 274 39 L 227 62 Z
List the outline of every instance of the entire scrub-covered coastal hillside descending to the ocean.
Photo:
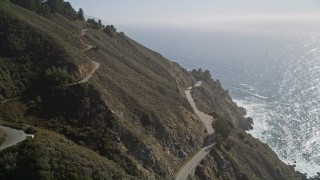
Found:
M 96 26 L 0 1 L 0 120 L 28 127 L 36 137 L 0 152 L 0 179 L 173 179 L 204 145 L 205 127 L 184 93 L 198 77 L 113 26 Z M 83 82 L 92 61 L 100 66 Z M 293 168 L 242 130 L 249 120 L 218 84 L 210 79 L 193 96 L 202 111 L 234 125 L 230 139 L 239 151 L 225 151 L 221 142 L 201 167 L 227 179 L 215 166 L 224 158 L 235 174 L 296 178 Z M 253 147 L 237 139 L 238 132 Z M 250 154 L 255 147 L 264 150 Z M 261 159 L 241 159 L 252 157 Z M 280 174 L 269 166 L 279 166 Z M 196 170 L 204 175 L 210 178 Z

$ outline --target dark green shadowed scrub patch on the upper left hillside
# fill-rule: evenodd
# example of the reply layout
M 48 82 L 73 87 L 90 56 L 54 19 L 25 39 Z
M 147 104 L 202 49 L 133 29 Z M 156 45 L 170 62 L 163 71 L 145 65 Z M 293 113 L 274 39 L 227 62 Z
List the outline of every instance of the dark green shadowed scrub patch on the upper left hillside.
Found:
M 0 27 L 0 99 L 21 94 L 50 66 L 67 66 L 67 54 L 26 24 L 0 12 Z

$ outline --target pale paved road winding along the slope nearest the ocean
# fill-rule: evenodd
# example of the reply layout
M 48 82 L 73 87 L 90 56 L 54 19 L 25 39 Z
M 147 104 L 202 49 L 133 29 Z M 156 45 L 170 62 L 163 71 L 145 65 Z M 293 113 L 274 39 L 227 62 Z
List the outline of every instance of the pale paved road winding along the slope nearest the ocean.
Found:
M 197 87 L 197 86 L 201 86 L 201 81 L 198 81 L 196 83 L 195 87 Z M 191 90 L 192 90 L 192 87 L 189 87 L 185 91 L 187 99 L 188 99 L 190 105 L 192 106 L 194 112 L 196 113 L 196 115 L 199 117 L 201 122 L 206 127 L 207 133 L 209 135 L 211 135 L 214 133 L 214 130 L 211 126 L 212 121 L 213 121 L 213 117 L 198 110 L 198 108 L 196 107 L 196 104 L 194 102 L 194 99 L 191 96 Z M 187 162 L 187 164 L 185 164 L 180 169 L 178 175 L 176 176 L 176 180 L 187 179 L 188 175 L 197 167 L 197 165 L 200 163 L 200 161 L 203 160 L 210 153 L 210 149 L 214 145 L 215 145 L 215 143 L 212 141 L 212 142 L 209 142 L 209 145 L 203 147 L 190 161 Z

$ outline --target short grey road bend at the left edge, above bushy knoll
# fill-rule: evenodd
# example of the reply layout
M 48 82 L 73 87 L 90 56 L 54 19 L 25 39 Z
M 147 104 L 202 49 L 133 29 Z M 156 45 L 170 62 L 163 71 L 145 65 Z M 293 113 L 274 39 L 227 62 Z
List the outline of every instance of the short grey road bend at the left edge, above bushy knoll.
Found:
M 21 130 L 16 130 L 13 128 L 5 127 L 0 125 L 0 129 L 3 130 L 7 137 L 4 143 L 0 145 L 0 151 L 8 147 L 19 144 L 20 142 L 26 140 L 27 135 Z

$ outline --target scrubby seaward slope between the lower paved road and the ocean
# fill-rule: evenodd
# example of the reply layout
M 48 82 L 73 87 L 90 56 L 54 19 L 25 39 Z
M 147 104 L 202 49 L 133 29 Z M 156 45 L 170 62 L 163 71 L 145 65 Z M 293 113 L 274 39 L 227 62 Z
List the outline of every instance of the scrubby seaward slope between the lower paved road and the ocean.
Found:
M 281 162 L 268 145 L 247 134 L 250 120 L 243 117 L 220 83 L 206 79 L 192 91 L 197 106 L 215 116 L 215 148 L 190 179 L 306 179 Z

